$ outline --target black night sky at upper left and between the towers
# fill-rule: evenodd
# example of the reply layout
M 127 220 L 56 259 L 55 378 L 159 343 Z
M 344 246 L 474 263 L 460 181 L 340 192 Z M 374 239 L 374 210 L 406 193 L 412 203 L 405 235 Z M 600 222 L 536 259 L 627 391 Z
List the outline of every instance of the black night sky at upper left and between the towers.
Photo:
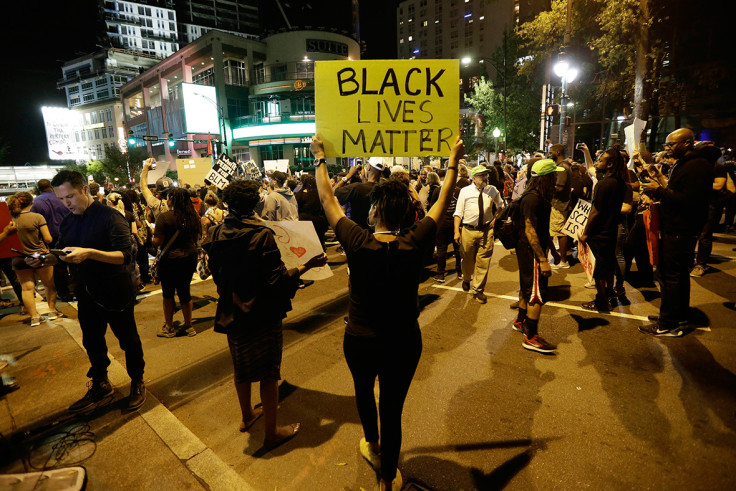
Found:
M 398 1 L 360 2 L 365 58 L 396 57 Z M 66 106 L 63 91 L 56 89 L 61 65 L 97 49 L 96 8 L 95 0 L 3 2 L 5 26 L 0 39 L 8 49 L 3 60 L 0 144 L 10 147 L 6 165 L 48 160 L 41 106 Z

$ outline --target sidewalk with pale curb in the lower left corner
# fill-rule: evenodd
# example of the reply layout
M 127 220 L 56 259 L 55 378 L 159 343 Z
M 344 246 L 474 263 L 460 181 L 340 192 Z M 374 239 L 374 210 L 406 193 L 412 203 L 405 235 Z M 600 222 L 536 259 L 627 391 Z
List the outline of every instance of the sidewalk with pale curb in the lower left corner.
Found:
M 15 357 L 6 374 L 20 384 L 0 399 L 0 473 L 82 465 L 89 489 L 250 489 L 151 392 L 139 411 L 124 412 L 129 379 L 112 356 L 110 404 L 68 414 L 88 380 L 76 310 L 60 303 L 65 318 L 35 328 L 19 310 L 0 311 L 0 352 Z

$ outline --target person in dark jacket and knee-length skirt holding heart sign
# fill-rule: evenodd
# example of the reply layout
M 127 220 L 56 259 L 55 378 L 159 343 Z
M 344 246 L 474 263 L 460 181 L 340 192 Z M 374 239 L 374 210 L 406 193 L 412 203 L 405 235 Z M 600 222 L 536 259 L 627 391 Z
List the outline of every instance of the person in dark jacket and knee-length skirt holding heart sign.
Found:
M 240 431 L 248 431 L 265 415 L 264 447 L 287 442 L 299 424 L 277 426 L 278 381 L 281 379 L 281 322 L 291 310 L 297 280 L 327 256 L 315 256 L 298 268 L 286 269 L 274 234 L 253 212 L 259 201 L 258 183 L 237 180 L 224 190 L 229 214 L 212 228 L 203 247 L 217 285 L 219 300 L 215 330 L 227 334 L 235 372 L 235 389 L 242 412 Z M 253 408 L 251 384 L 260 382 L 263 408 Z

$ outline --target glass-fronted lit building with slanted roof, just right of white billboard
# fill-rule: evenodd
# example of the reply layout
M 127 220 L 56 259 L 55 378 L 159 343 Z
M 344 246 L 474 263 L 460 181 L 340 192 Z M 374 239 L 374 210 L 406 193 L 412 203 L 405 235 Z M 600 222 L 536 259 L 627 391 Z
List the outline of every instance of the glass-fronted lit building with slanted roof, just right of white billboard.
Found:
M 110 48 L 62 66 L 57 88 L 64 90 L 67 107 L 74 113 L 78 160 L 102 159 L 111 146 L 124 147 L 120 87 L 157 61 L 153 55 Z

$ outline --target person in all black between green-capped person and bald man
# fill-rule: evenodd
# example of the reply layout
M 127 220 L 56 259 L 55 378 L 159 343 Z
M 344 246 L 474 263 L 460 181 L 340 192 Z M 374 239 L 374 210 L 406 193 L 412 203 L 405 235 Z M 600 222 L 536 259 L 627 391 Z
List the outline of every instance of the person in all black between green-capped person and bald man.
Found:
M 596 170 L 605 177 L 593 189 L 593 203 L 588 215 L 588 223 L 580 235 L 580 242 L 590 247 L 595 257 L 593 278 L 596 297 L 586 302 L 584 309 L 608 312 L 611 308 L 609 297 L 615 297 L 614 270 L 616 263 L 616 241 L 619 234 L 619 217 L 626 195 L 626 162 L 614 145 L 608 148 L 596 161 Z M 629 188 L 630 189 L 630 188 Z

